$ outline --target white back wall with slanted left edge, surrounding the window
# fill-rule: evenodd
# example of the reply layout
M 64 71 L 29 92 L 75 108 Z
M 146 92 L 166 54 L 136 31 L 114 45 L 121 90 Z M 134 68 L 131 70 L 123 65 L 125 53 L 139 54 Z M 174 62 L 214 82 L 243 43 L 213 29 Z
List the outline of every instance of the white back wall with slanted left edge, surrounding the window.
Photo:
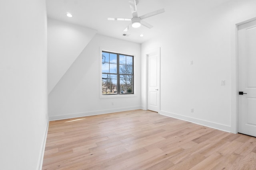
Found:
M 100 98 L 100 49 L 135 55 L 134 97 Z M 141 108 L 140 61 L 140 44 L 95 35 L 49 94 L 50 119 Z

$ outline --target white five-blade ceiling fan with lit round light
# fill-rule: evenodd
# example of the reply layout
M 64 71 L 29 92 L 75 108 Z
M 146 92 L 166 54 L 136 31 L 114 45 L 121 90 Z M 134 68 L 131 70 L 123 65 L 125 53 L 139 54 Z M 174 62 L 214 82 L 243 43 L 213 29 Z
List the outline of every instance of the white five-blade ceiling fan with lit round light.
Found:
M 132 18 L 108 18 L 108 20 L 112 20 L 112 21 L 114 21 L 114 20 L 131 21 L 131 23 L 128 25 L 128 27 L 126 27 L 126 29 L 124 29 L 124 31 L 128 31 L 130 26 L 132 26 L 134 28 L 138 28 L 138 27 L 140 27 L 140 25 L 144 25 L 145 27 L 152 28 L 153 26 L 150 25 L 149 23 L 143 21 L 143 19 L 149 18 L 151 16 L 155 16 L 157 14 L 161 14 L 164 12 L 164 8 L 162 8 L 160 10 L 156 10 L 154 12 L 150 12 L 148 14 L 138 17 L 138 12 L 137 12 L 137 8 L 136 8 L 136 5 L 138 4 L 138 0 L 128 0 L 128 1 L 130 4 L 131 11 L 132 11 Z

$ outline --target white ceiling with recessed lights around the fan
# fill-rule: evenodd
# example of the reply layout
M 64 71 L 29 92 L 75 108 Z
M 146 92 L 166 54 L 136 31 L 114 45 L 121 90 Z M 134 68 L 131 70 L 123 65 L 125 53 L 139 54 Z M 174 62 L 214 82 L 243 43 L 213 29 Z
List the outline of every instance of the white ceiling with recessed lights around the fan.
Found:
M 128 0 L 46 0 L 48 17 L 96 29 L 99 34 L 116 37 L 136 43 L 143 43 L 162 33 L 168 33 L 172 27 L 208 12 L 210 9 L 229 0 L 139 0 L 138 16 L 165 9 L 165 12 L 144 19 L 154 27 L 143 25 L 123 30 L 130 21 L 108 21 L 112 18 L 132 18 Z M 73 17 L 68 18 L 70 12 Z M 126 33 L 128 36 L 123 36 Z M 143 33 L 144 37 L 140 37 Z

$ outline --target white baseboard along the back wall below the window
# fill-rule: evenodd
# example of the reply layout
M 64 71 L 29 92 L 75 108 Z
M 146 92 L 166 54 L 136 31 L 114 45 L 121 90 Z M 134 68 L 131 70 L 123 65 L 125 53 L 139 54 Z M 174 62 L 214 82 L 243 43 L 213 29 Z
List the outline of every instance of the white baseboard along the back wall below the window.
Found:
M 136 109 L 142 109 L 142 107 L 141 106 L 135 106 L 135 107 L 124 107 L 124 108 L 117 108 L 117 109 L 108 109 L 108 110 L 70 113 L 70 114 L 66 114 L 66 115 L 49 116 L 49 120 L 53 121 L 53 120 L 70 119 L 70 118 L 84 117 L 84 116 L 102 115 L 102 114 L 107 114 L 107 113 L 114 113 L 114 112 L 119 112 L 119 111 L 129 111 L 129 110 L 136 110 Z

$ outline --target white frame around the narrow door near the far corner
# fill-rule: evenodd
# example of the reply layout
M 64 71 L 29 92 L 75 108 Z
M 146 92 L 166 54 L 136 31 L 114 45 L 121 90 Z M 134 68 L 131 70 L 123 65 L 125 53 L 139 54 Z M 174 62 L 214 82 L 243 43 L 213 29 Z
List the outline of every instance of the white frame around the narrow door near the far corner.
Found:
M 145 109 L 148 110 L 148 55 L 152 54 L 152 53 L 157 53 L 159 56 L 159 65 L 160 65 L 160 72 L 159 72 L 159 99 L 158 99 L 158 103 L 159 103 L 159 112 L 161 110 L 161 103 L 160 103 L 160 96 L 161 96 L 161 55 L 160 55 L 160 47 L 153 49 L 151 51 L 148 51 L 146 53 L 146 106 Z M 159 113 L 158 112 L 158 113 Z

